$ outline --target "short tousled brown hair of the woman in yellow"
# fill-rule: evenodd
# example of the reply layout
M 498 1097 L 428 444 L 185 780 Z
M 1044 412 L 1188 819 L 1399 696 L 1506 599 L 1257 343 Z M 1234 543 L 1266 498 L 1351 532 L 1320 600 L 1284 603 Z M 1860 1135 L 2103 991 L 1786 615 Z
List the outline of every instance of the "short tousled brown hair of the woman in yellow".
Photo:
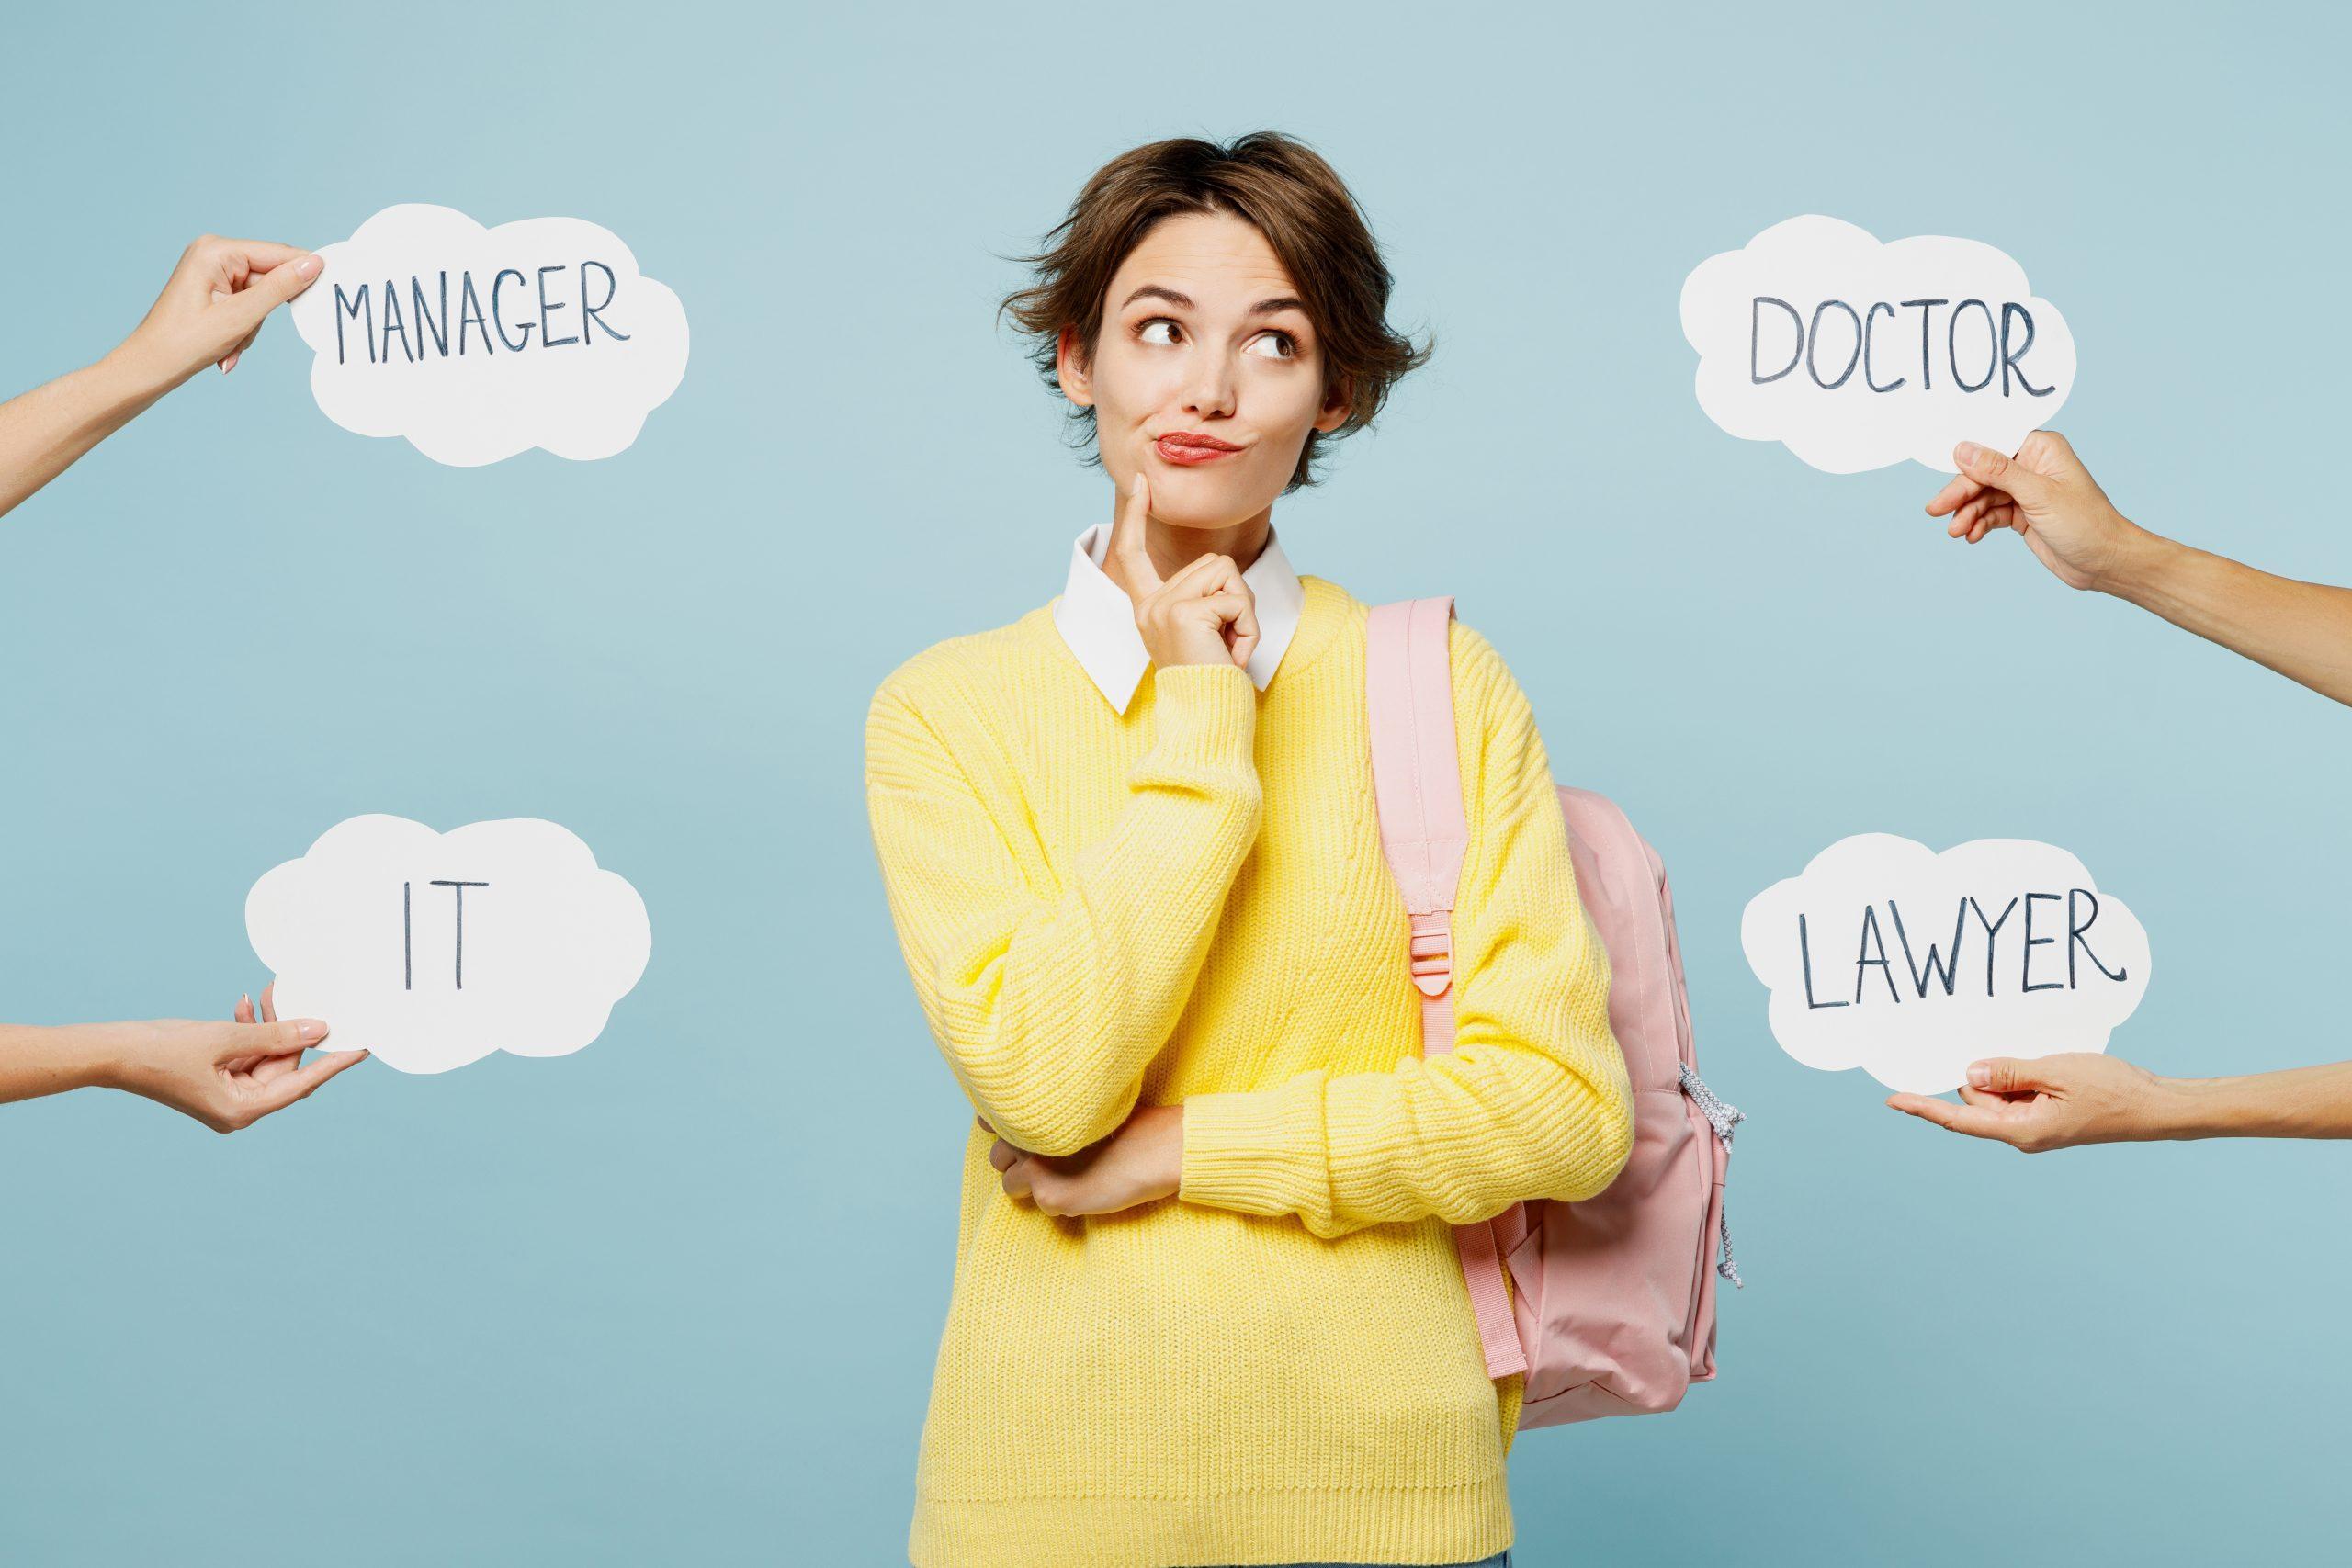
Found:
M 1308 320 L 1324 346 L 1324 402 L 1345 388 L 1348 418 L 1329 440 L 1371 423 L 1404 371 L 1430 357 L 1388 324 L 1388 263 L 1355 195 L 1324 158 L 1282 132 L 1251 132 L 1228 146 L 1200 136 L 1152 141 L 1105 162 L 1070 202 L 1044 249 L 1016 261 L 1035 282 L 997 306 L 1033 339 L 1030 360 L 1047 388 L 1061 390 L 1054 350 L 1063 327 L 1077 329 L 1080 353 L 1094 357 L 1103 329 L 1103 296 L 1127 254 L 1160 219 L 1181 212 L 1230 212 L 1265 235 L 1282 259 Z M 1094 409 L 1070 409 L 1077 440 L 1094 437 Z M 1327 433 L 1310 430 L 1284 494 L 1312 484 L 1315 451 Z M 1094 458 L 1103 456 L 1096 449 Z

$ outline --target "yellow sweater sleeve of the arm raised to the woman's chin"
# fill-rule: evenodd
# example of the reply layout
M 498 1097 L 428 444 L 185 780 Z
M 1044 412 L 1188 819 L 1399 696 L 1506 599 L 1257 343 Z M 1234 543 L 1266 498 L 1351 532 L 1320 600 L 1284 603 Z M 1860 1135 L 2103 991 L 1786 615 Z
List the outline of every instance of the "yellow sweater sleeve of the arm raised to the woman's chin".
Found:
M 1171 665 L 1155 686 L 1129 799 L 1054 889 L 1033 886 L 915 693 L 884 682 L 868 710 L 866 802 L 915 992 L 974 1110 L 1035 1154 L 1134 1110 L 1258 835 L 1249 672 Z

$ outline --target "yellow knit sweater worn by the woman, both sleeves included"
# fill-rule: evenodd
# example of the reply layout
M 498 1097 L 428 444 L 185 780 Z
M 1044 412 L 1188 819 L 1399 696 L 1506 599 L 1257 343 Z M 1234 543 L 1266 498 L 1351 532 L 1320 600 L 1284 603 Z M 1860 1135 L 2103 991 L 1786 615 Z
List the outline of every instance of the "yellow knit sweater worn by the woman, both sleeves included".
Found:
M 1583 1199 L 1632 1140 L 1609 961 L 1526 696 L 1454 623 L 1470 846 L 1456 1048 L 1423 1063 L 1374 816 L 1364 616 L 1303 576 L 1261 693 L 1112 712 L 1051 604 L 898 665 L 866 790 L 915 994 L 974 1110 L 1061 1154 L 1183 1103 L 1178 1197 L 1054 1218 L 964 1126 L 917 1568 L 1458 1563 L 1512 1542 L 1522 1375 L 1449 1225 Z

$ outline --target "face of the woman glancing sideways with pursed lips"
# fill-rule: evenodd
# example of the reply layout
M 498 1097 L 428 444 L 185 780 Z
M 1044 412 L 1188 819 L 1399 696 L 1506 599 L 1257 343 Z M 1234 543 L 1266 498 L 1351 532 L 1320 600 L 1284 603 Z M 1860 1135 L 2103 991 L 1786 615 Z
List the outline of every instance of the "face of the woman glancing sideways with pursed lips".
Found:
M 1061 386 L 1094 409 L 1103 468 L 1122 494 L 1141 468 L 1176 527 L 1268 510 L 1308 433 L 1348 418 L 1324 404 L 1322 343 L 1275 247 L 1225 212 L 1155 223 L 1110 280 L 1091 362 L 1075 348 L 1065 327 Z

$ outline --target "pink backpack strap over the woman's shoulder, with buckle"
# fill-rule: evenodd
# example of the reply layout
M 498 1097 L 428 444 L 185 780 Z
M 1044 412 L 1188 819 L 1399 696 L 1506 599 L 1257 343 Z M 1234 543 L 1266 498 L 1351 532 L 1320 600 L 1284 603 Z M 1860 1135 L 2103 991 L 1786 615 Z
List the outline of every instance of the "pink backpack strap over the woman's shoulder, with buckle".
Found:
M 1454 1048 L 1454 896 L 1470 820 L 1454 741 L 1454 595 L 1376 604 L 1364 623 L 1364 698 L 1381 849 L 1411 914 L 1411 973 L 1421 990 L 1421 1056 Z M 1526 1371 L 1503 1286 L 1494 1220 L 1456 1225 L 1463 1281 L 1477 1309 L 1486 1375 Z

